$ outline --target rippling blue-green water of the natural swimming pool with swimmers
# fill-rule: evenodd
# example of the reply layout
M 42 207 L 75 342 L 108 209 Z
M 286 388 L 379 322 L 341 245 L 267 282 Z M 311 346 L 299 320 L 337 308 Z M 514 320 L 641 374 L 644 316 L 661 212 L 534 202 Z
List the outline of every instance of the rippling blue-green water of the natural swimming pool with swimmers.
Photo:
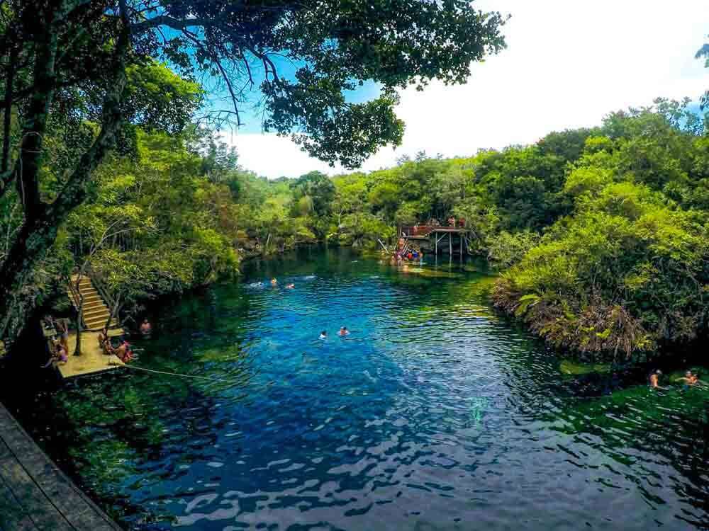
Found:
M 492 280 L 347 249 L 250 263 L 134 343 L 137 366 L 213 379 L 121 370 L 16 413 L 135 530 L 708 527 L 709 392 L 569 370 Z

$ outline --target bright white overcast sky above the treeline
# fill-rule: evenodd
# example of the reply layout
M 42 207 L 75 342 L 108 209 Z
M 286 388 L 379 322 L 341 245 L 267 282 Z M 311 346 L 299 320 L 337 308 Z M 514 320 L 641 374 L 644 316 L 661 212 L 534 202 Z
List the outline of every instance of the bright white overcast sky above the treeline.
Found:
M 610 111 L 650 105 L 658 96 L 697 100 L 709 89 L 709 69 L 694 58 L 708 41 L 707 0 L 480 0 L 474 6 L 512 16 L 503 28 L 507 49 L 474 64 L 467 84 L 401 91 L 396 113 L 406 122 L 403 142 L 380 149 L 362 171 L 419 151 L 470 156 L 480 148 L 530 144 L 554 130 L 599 125 Z M 269 178 L 342 172 L 254 127 L 224 139 L 245 169 Z

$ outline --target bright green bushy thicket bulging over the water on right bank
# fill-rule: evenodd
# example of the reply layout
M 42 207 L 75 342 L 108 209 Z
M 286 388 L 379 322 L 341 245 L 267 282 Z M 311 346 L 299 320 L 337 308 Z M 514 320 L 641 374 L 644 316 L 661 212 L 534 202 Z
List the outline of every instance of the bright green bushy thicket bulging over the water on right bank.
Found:
M 571 214 L 503 274 L 498 307 L 582 352 L 706 340 L 708 166 L 685 107 L 613 113 L 605 136 L 586 139 L 564 183 Z

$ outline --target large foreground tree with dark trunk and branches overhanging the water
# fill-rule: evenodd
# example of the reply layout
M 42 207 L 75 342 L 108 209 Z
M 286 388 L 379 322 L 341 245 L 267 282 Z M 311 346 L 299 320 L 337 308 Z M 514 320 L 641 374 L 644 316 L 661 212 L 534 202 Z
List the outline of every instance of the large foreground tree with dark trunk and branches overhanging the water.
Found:
M 216 93 L 232 104 L 199 122 L 240 125 L 247 94 L 258 87 L 265 130 L 292 133 L 311 154 L 357 166 L 380 146 L 401 142 L 396 89 L 434 78 L 466 81 L 471 62 L 503 47 L 502 24 L 499 13 L 482 13 L 466 0 L 2 2 L 0 195 L 16 183 L 23 222 L 0 265 L 0 336 L 12 338 L 23 325 L 22 318 L 12 326 L 8 319 L 22 287 L 86 198 L 106 154 L 130 149 L 130 125 L 182 130 L 206 93 L 191 82 L 198 74 L 219 80 Z M 291 78 L 279 68 L 283 56 L 301 65 Z M 367 80 L 381 94 L 348 102 L 345 92 Z M 82 135 L 47 193 L 52 122 Z

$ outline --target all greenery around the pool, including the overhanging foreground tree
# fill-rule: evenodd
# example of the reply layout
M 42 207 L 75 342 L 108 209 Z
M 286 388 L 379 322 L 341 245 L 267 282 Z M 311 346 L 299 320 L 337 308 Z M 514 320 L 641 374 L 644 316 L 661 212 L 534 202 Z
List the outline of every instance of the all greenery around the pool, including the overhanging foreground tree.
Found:
M 503 22 L 463 0 L 0 2 L 0 338 L 68 304 L 57 294 L 84 265 L 130 313 L 252 254 L 375 248 L 454 215 L 501 273 L 493 302 L 554 346 L 619 358 L 706 341 L 708 120 L 689 100 L 332 178 L 268 180 L 220 142 L 257 88 L 264 130 L 357 168 L 401 142 L 396 89 L 466 81 Z M 379 96 L 347 101 L 365 81 Z

